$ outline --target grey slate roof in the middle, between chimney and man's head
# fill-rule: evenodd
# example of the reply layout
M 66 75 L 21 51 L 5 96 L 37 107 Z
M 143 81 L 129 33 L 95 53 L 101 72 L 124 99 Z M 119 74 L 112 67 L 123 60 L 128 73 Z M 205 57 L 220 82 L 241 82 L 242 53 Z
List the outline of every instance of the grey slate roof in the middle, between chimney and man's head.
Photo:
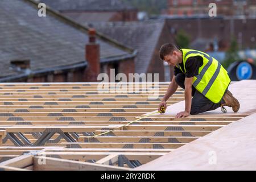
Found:
M 163 30 L 164 21 L 102 22 L 88 23 L 87 25 L 122 44 L 137 49 L 135 72 L 146 73 Z

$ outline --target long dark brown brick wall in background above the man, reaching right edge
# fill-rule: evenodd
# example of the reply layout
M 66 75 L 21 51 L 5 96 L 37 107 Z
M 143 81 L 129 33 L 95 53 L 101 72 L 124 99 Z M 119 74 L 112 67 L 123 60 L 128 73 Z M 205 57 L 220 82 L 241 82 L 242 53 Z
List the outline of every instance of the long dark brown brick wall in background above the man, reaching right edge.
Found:
M 230 41 L 231 35 L 236 36 L 237 40 L 241 38 L 242 48 L 255 48 L 256 39 L 256 19 L 167 19 L 168 29 L 174 28 L 176 32 L 183 29 L 189 34 L 191 41 L 197 38 Z M 175 34 L 172 34 L 175 36 Z

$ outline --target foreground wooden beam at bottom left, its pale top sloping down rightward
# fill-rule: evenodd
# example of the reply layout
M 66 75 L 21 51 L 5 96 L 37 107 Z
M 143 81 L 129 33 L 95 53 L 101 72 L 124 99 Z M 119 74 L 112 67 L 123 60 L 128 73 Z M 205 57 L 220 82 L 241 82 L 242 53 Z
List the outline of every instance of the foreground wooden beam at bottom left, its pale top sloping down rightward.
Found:
M 40 160 L 45 160 L 46 164 L 40 164 Z M 34 157 L 34 170 L 35 171 L 128 171 L 129 168 L 107 166 L 103 164 L 94 164 L 86 162 L 77 162 L 66 159 L 55 159 L 48 157 Z

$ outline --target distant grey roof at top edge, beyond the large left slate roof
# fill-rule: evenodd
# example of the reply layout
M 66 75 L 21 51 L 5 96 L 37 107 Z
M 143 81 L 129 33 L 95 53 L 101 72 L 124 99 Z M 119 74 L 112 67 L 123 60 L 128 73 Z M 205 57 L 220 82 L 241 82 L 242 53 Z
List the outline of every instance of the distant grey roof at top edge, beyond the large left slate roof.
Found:
M 122 0 L 41 0 L 56 10 L 113 11 L 134 10 L 129 3 Z

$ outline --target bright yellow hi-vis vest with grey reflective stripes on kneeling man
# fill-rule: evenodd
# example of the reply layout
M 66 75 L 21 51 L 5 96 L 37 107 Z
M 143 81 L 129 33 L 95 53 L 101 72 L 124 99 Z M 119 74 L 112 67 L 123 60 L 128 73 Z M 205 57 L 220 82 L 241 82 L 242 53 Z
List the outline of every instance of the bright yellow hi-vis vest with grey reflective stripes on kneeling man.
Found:
M 193 77 L 192 85 L 210 101 L 216 104 L 220 102 L 230 84 L 230 78 L 226 69 L 207 53 L 193 49 L 180 50 L 183 52 L 184 70 L 181 69 L 179 64 L 176 67 L 183 73 L 186 73 L 185 63 L 187 59 L 193 56 L 201 56 L 203 58 L 203 65 L 199 67 L 199 75 Z

